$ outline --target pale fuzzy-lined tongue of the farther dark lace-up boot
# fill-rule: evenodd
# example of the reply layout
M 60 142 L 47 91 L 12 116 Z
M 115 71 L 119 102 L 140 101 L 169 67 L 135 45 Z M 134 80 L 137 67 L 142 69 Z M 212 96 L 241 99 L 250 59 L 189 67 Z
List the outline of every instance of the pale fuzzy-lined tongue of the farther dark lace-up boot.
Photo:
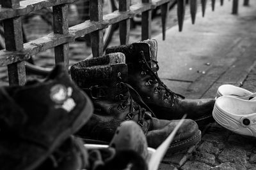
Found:
M 149 45 L 150 59 L 157 61 L 157 41 L 155 39 L 147 39 L 143 41 Z M 154 72 L 157 72 L 157 65 L 151 62 L 151 68 Z

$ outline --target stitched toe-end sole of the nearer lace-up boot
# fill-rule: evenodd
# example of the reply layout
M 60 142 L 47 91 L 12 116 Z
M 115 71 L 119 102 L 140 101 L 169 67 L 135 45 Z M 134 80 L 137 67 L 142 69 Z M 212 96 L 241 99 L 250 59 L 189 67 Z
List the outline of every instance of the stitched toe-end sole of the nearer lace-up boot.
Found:
M 180 141 L 179 143 L 175 143 L 173 145 L 171 144 L 170 147 L 168 148 L 166 155 L 169 155 L 170 153 L 184 152 L 184 150 L 191 148 L 191 146 L 197 145 L 200 141 L 201 131 L 198 130 L 198 133 L 192 138 Z

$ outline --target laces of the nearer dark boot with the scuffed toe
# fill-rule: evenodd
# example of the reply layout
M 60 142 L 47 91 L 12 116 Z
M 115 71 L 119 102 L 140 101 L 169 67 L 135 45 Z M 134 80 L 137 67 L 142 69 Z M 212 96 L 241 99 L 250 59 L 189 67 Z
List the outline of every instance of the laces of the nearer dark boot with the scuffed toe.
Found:
M 138 100 L 140 101 L 141 104 L 143 104 L 143 106 L 145 108 L 147 108 L 148 111 L 150 111 L 152 113 L 152 115 L 154 117 L 156 117 L 156 115 L 153 113 L 152 110 L 150 110 L 150 108 L 148 108 L 147 104 L 145 104 L 143 102 L 143 100 L 140 97 L 140 94 L 138 94 L 138 92 L 133 89 L 131 87 L 131 85 L 122 82 L 122 78 L 120 76 L 121 74 L 118 73 L 118 78 L 120 79 L 120 83 L 117 83 L 116 86 L 119 87 L 120 89 L 123 89 L 124 87 L 128 89 L 128 91 L 132 90 L 132 92 L 134 92 L 134 94 L 136 95 L 136 97 L 138 98 Z M 118 99 L 124 99 L 125 96 L 124 94 L 119 94 L 118 96 L 116 96 Z M 129 113 L 127 114 L 127 116 L 125 117 L 125 120 L 131 120 L 132 118 L 134 118 L 135 115 L 138 114 L 138 124 L 143 127 L 143 119 L 145 118 L 145 113 L 146 113 L 146 109 L 142 108 L 140 106 L 140 104 L 136 103 L 133 99 L 131 94 L 129 93 L 127 99 L 125 101 L 123 101 L 122 103 L 119 104 L 118 106 L 118 110 L 124 110 L 126 108 L 126 106 L 130 106 L 130 110 Z

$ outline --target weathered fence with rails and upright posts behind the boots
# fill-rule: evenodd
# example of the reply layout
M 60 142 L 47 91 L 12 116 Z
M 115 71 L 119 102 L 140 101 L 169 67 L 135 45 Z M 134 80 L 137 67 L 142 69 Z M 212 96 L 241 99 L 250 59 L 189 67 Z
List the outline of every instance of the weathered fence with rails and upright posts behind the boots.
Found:
M 151 15 L 152 10 L 161 6 L 163 38 L 168 17 L 168 5 L 174 0 L 142 0 L 130 6 L 130 0 L 119 0 L 119 10 L 103 16 L 102 0 L 90 0 L 90 20 L 68 28 L 67 8 L 69 3 L 75 0 L 2 0 L 0 8 L 0 20 L 4 23 L 4 34 L 6 50 L 0 50 L 0 66 L 8 66 L 8 78 L 10 85 L 24 85 L 26 82 L 26 70 L 24 60 L 28 60 L 31 55 L 42 52 L 49 48 L 54 48 L 55 62 L 63 62 L 68 69 L 68 43 L 76 38 L 91 35 L 91 45 L 93 57 L 103 53 L 103 30 L 108 25 L 119 23 L 120 44 L 129 42 L 130 18 L 141 13 L 141 40 L 151 38 Z M 178 18 L 180 31 L 184 20 L 184 4 L 186 0 L 178 1 Z M 191 0 L 191 5 L 195 7 L 195 0 Z M 215 1 L 212 1 L 215 3 Z M 238 0 L 234 0 L 233 13 L 237 12 Z M 223 3 L 223 1 L 221 1 Z M 202 4 L 204 0 L 202 0 Z M 213 4 L 214 5 L 214 4 Z M 248 0 L 244 1 L 248 5 Z M 22 41 L 21 17 L 28 15 L 31 11 L 52 7 L 53 32 L 42 38 L 35 39 L 29 43 Z M 205 8 L 205 6 L 203 6 Z M 195 9 L 196 8 L 191 8 Z M 195 17 L 195 10 L 193 16 Z M 214 9 L 213 9 L 214 10 Z M 204 11 L 204 9 L 203 9 Z M 194 18 L 195 21 L 195 18 Z

